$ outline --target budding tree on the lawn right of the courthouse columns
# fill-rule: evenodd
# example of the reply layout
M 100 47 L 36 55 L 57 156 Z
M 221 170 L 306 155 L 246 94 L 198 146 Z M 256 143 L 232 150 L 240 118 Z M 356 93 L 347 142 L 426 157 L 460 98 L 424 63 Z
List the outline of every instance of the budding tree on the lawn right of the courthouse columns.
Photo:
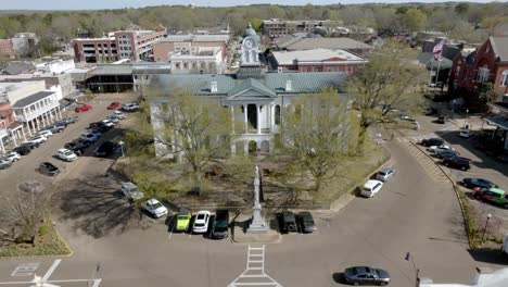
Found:
M 335 176 L 347 152 L 347 98 L 328 89 L 292 102 L 284 113 L 284 150 L 314 182 L 315 190 Z

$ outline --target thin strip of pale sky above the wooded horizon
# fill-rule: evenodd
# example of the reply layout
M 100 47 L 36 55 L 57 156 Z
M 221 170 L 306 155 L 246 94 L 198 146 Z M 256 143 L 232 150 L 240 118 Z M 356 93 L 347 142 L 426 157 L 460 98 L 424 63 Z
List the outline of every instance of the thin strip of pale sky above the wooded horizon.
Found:
M 233 7 L 249 5 L 255 3 L 272 3 L 287 5 L 304 5 L 313 3 L 333 4 L 333 3 L 365 3 L 365 2 L 444 2 L 439 0 L 0 0 L 0 10 L 87 10 L 87 9 L 120 9 L 120 8 L 140 8 L 150 5 L 176 5 L 194 3 L 199 7 Z M 490 2 L 478 0 L 474 2 Z

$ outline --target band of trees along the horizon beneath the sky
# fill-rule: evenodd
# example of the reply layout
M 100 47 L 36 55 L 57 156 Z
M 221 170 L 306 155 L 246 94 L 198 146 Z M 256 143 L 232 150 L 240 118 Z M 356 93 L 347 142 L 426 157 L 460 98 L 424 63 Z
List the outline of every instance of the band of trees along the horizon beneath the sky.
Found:
M 148 7 L 141 9 L 12 12 L 0 14 L 0 38 L 20 32 L 33 32 L 41 38 L 42 52 L 50 52 L 58 42 L 68 42 L 79 33 L 92 37 L 104 33 L 140 27 L 154 29 L 162 24 L 173 33 L 196 27 L 229 24 L 240 34 L 246 21 L 259 30 L 263 18 L 332 20 L 345 26 L 372 27 L 383 34 L 439 30 L 466 41 L 483 41 L 478 28 L 492 32 L 508 21 L 508 3 L 405 3 L 361 5 L 244 5 L 229 8 L 190 8 L 182 5 Z

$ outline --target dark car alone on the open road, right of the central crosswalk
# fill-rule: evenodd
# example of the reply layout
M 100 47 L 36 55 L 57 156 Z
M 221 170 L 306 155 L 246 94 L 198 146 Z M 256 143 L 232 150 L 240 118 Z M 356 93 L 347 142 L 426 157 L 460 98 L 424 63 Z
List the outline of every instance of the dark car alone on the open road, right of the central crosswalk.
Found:
M 381 269 L 355 266 L 344 270 L 344 278 L 353 285 L 388 285 L 390 274 Z

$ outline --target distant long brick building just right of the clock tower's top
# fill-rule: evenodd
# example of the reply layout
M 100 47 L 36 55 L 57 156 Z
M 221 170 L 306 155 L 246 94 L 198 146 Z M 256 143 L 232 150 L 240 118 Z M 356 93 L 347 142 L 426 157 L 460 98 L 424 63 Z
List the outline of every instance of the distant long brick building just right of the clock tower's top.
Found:
M 285 21 L 279 18 L 264 20 L 263 35 L 270 38 L 283 37 L 294 33 L 314 33 L 317 27 L 328 28 L 333 25 L 329 20 L 299 20 Z

